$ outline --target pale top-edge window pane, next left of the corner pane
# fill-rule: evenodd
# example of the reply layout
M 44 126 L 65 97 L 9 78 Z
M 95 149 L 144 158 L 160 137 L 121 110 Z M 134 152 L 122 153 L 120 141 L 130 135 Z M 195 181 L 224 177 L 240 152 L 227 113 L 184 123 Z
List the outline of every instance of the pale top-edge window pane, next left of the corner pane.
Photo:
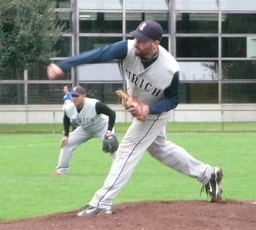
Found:
M 221 0 L 222 1 L 222 0 Z M 216 0 L 176 0 L 178 10 L 217 10 Z

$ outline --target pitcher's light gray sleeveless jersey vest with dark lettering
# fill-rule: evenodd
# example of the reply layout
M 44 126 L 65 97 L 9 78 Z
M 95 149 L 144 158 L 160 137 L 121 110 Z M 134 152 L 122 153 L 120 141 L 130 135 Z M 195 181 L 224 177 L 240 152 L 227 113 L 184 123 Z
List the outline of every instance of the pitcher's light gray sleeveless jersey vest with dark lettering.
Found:
M 140 58 L 134 54 L 135 40 L 128 40 L 127 56 L 123 61 L 130 96 L 143 104 L 152 104 L 164 98 L 164 90 L 178 71 L 178 63 L 170 53 L 159 45 L 159 56 L 144 69 Z

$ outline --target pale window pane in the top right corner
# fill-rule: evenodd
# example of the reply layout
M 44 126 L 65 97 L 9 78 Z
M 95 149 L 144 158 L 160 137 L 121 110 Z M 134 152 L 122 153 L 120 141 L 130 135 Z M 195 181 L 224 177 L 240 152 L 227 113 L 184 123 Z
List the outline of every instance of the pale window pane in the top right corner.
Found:
M 221 6 L 222 10 L 256 11 L 255 0 L 222 0 Z

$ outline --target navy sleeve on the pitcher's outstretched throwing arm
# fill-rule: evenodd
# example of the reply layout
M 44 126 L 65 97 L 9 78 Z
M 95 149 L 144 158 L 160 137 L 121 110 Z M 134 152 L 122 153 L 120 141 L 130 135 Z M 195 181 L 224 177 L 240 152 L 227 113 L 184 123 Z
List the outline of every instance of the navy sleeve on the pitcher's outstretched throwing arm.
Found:
M 63 61 L 57 62 L 56 65 L 59 66 L 62 71 L 67 72 L 72 66 L 79 66 L 82 64 L 99 64 L 114 59 L 124 60 L 126 56 L 127 41 L 121 41 L 64 59 Z

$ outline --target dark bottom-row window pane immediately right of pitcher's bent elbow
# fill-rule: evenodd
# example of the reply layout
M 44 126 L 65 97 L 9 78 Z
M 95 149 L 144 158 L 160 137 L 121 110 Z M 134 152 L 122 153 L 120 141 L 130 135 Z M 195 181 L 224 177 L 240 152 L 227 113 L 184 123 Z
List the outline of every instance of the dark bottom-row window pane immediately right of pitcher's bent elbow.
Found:
M 217 83 L 181 83 L 179 101 L 184 104 L 218 103 Z

